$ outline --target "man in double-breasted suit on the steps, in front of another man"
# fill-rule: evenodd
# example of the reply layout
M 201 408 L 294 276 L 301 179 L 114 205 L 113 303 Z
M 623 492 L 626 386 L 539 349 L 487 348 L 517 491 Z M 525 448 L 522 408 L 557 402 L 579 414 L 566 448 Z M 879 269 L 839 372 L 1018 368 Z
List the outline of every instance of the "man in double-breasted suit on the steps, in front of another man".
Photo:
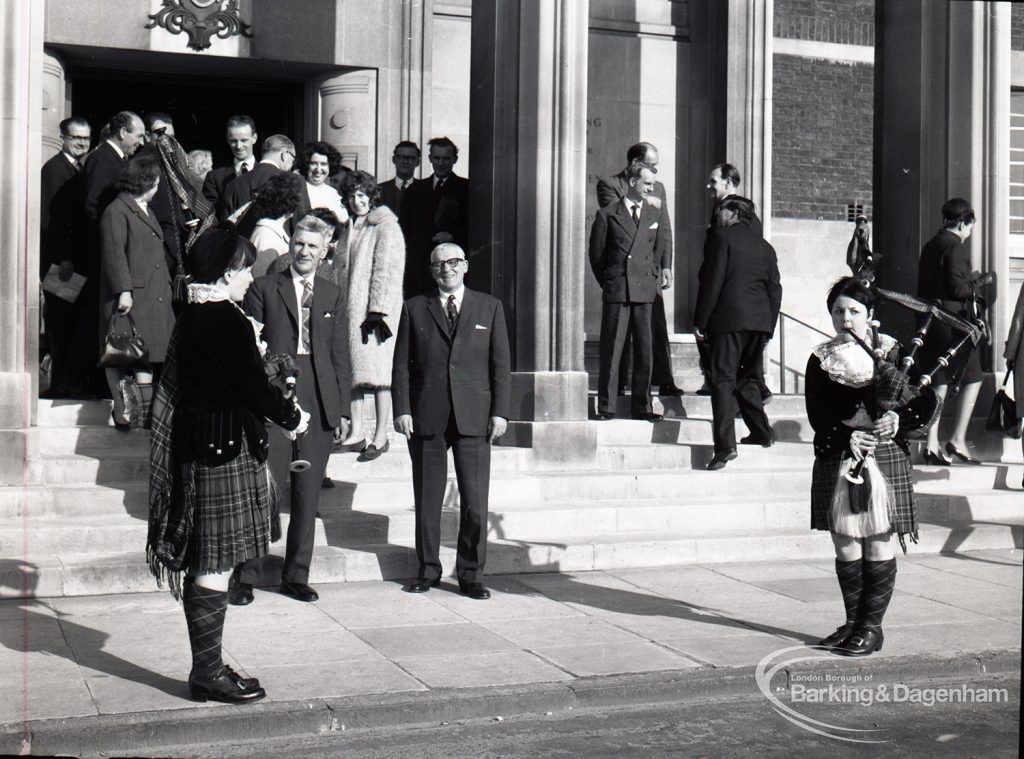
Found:
M 650 403 L 650 312 L 666 277 L 662 268 L 669 243 L 662 210 L 647 199 L 654 192 L 654 169 L 645 163 L 627 170 L 629 191 L 594 217 L 590 231 L 590 266 L 602 291 L 600 370 L 597 418 L 615 416 L 618 365 L 627 331 L 633 334 L 634 419 L 657 421 Z

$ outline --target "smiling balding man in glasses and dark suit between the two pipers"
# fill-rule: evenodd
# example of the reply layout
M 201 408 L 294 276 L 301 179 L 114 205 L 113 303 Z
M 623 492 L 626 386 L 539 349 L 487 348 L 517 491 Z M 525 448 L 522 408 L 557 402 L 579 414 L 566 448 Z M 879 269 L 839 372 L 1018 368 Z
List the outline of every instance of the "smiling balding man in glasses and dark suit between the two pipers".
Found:
M 440 584 L 441 504 L 447 449 L 459 482 L 459 591 L 485 599 L 490 444 L 505 433 L 510 353 L 501 301 L 465 287 L 469 264 L 453 243 L 434 248 L 429 270 L 437 289 L 406 301 L 391 377 L 394 427 L 409 440 L 416 499 L 419 577 L 406 588 Z

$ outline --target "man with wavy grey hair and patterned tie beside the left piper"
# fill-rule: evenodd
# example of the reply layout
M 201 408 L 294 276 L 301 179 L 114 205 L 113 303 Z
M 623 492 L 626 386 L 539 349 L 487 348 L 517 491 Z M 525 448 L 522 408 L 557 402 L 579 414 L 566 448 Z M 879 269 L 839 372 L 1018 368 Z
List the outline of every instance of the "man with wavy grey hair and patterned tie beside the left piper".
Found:
M 321 483 L 337 430 L 347 433 L 350 403 L 348 334 L 345 300 L 340 288 L 315 276 L 327 253 L 332 229 L 314 216 L 302 218 L 292 236 L 292 265 L 285 271 L 256 280 L 246 294 L 246 311 L 263 324 L 267 353 L 288 353 L 299 370 L 296 397 L 311 415 L 309 428 L 298 440 L 298 457 L 309 462 L 305 471 L 288 471 L 292 444 L 283 434 L 270 435 L 268 462 L 274 481 L 291 479 L 290 519 L 281 592 L 300 601 L 315 601 L 309 587 L 309 564 Z M 247 561 L 232 578 L 229 600 L 245 605 L 253 600 L 252 586 L 260 582 L 266 557 Z

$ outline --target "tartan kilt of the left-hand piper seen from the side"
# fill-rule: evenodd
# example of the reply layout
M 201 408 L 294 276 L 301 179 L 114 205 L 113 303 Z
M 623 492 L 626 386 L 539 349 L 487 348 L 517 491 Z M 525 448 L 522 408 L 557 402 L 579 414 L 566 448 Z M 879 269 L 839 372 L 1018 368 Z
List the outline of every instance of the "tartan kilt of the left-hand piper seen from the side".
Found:
M 248 446 L 218 466 L 196 463 L 196 522 L 193 533 L 197 574 L 224 572 L 270 549 L 271 519 L 278 516 L 276 489 L 265 462 Z

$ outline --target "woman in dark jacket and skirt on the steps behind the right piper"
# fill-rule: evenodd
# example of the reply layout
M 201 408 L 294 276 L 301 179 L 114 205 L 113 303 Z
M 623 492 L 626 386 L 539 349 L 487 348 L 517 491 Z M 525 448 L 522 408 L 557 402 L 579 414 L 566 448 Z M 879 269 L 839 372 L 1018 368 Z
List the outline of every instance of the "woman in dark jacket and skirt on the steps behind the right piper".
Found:
M 971 271 L 971 251 L 964 245 L 974 230 L 974 210 L 963 198 L 952 198 L 942 206 L 942 228 L 925 244 L 921 251 L 918 268 L 918 296 L 923 300 L 939 300 L 942 307 L 953 313 L 964 314 L 975 295 L 972 282 L 979 277 Z M 937 359 L 961 335 L 937 321 L 925 337 L 918 357 L 918 365 L 935 366 Z M 940 370 L 933 377 L 935 394 L 940 402 L 946 399 L 949 385 L 959 383 L 959 399 L 956 404 L 956 421 L 953 433 L 945 445 L 945 453 L 939 447 L 939 425 L 928 430 L 928 445 L 925 449 L 926 464 L 948 465 L 952 460 L 964 464 L 979 464 L 968 452 L 967 430 L 971 423 L 978 390 L 981 388 L 981 359 L 976 349 L 968 345 L 966 354 L 953 360 L 947 369 Z

